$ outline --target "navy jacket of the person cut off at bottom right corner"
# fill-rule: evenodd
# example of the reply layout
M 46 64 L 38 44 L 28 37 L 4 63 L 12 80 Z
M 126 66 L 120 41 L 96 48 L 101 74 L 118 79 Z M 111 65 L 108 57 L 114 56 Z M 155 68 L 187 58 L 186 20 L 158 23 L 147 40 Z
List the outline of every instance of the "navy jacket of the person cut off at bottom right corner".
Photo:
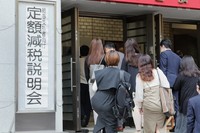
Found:
M 200 133 L 200 95 L 188 101 L 187 133 Z

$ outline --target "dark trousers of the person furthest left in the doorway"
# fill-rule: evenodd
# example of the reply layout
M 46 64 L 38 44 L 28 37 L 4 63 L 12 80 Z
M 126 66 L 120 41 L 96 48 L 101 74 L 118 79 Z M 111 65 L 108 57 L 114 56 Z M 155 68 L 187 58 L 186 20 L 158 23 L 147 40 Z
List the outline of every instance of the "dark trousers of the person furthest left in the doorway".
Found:
M 88 84 L 81 83 L 81 120 L 83 120 L 83 125 L 87 126 L 90 113 L 92 111 L 91 103 L 90 103 L 90 95 L 89 95 L 89 86 Z

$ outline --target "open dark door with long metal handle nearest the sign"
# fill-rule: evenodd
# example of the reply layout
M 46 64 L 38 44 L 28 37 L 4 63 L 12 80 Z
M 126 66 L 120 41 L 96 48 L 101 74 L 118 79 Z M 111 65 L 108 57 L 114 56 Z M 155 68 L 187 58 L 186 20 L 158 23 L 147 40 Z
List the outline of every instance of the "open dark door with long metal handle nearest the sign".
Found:
M 63 129 L 64 130 L 81 130 L 81 111 L 80 111 L 80 66 L 79 66 L 79 34 L 78 34 L 78 17 L 79 11 L 78 8 L 72 8 L 62 13 L 62 18 L 69 17 L 71 21 L 67 24 L 70 27 L 70 30 L 66 34 L 71 33 L 67 39 L 70 42 L 70 55 L 68 55 L 68 81 L 70 80 L 70 87 L 68 87 L 67 98 L 64 99 L 63 105 L 68 104 L 67 112 L 70 118 L 66 117 L 67 120 L 63 119 Z M 62 33 L 62 35 L 65 33 Z M 64 54 L 63 54 L 64 55 Z M 71 95 L 71 96 L 70 96 Z M 63 95 L 64 97 L 64 95 Z M 68 101 L 65 101 L 68 100 Z M 69 105 L 71 102 L 71 106 Z M 63 113 L 65 108 L 63 107 Z M 63 117 L 64 118 L 64 117 Z M 65 119 L 66 119 L 65 118 Z

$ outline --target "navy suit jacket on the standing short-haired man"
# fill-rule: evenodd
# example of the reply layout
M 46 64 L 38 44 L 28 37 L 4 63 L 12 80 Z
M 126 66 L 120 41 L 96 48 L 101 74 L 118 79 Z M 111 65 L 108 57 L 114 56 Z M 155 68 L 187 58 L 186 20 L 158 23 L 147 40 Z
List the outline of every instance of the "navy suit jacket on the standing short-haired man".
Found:
M 176 77 L 178 75 L 180 61 L 181 58 L 171 50 L 163 51 L 160 54 L 159 67 L 166 75 L 171 88 L 173 87 Z

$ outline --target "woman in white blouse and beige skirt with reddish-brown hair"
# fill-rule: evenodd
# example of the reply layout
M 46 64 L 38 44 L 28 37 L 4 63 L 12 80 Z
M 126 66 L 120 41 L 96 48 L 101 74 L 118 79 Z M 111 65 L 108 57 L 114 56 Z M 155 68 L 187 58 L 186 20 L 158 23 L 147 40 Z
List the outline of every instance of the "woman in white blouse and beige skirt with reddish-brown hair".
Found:
M 139 58 L 138 68 L 135 104 L 144 114 L 144 133 L 162 133 L 166 117 L 162 112 L 159 85 L 169 88 L 169 82 L 159 68 L 154 68 L 149 55 Z

